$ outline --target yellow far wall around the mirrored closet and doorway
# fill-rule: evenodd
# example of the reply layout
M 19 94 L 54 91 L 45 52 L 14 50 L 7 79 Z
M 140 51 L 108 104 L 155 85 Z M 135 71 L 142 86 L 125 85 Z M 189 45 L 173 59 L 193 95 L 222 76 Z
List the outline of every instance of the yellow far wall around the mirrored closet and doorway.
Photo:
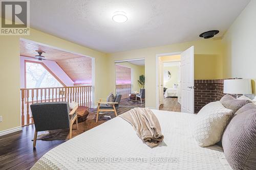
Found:
M 179 44 L 156 46 L 132 50 L 127 52 L 108 54 L 110 57 L 109 65 L 114 65 L 115 61 L 126 59 L 145 59 L 145 105 L 146 107 L 156 108 L 156 55 L 163 53 L 181 52 L 188 47 L 195 46 L 195 79 L 220 79 L 222 78 L 222 54 L 223 47 L 221 40 L 208 39 L 191 41 Z M 206 57 L 205 60 L 199 61 L 197 58 Z M 212 63 L 212 61 L 216 61 Z M 212 66 L 210 70 L 207 66 Z M 220 70 L 216 71 L 219 68 Z M 204 69 L 207 70 L 206 75 Z M 114 90 L 114 67 L 110 67 L 110 83 L 112 91 Z

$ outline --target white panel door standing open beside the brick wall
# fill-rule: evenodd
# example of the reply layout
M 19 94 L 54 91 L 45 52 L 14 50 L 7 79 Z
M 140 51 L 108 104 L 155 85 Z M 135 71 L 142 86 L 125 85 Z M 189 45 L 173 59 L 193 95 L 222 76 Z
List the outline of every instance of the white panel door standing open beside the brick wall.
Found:
M 194 114 L 194 46 L 181 53 L 181 112 Z

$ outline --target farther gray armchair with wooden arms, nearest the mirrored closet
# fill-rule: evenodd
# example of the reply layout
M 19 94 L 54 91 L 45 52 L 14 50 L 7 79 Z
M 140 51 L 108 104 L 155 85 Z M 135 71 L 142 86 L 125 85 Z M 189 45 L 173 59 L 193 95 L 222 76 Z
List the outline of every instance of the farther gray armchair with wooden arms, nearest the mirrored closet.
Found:
M 98 103 L 98 108 L 97 108 L 97 116 L 96 116 L 96 123 L 98 122 L 99 118 L 99 112 L 115 112 L 115 115 L 117 116 L 117 109 L 119 107 L 119 103 L 121 101 L 122 95 L 121 94 L 116 94 L 114 102 L 101 102 L 102 100 L 106 99 L 99 99 Z M 109 105 L 112 104 L 112 106 Z

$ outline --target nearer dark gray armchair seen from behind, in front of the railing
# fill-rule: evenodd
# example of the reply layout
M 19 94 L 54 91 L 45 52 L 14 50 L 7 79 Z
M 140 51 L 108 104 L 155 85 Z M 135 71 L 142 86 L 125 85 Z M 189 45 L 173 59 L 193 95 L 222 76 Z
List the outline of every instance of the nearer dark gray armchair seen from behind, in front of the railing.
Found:
M 76 120 L 78 129 L 76 106 L 70 111 L 68 102 L 35 103 L 30 106 L 34 124 L 35 135 L 33 147 L 36 145 L 37 132 L 57 129 L 70 129 L 69 138 L 72 137 L 72 125 Z

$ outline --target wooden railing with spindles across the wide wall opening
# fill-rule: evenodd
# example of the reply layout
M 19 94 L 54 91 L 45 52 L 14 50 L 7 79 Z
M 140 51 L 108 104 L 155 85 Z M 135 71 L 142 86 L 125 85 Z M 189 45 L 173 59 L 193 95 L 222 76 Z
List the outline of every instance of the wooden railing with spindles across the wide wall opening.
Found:
M 26 126 L 33 124 L 30 111 L 30 105 L 33 103 L 75 101 L 79 106 L 91 107 L 92 86 L 22 88 L 20 98 L 21 124 Z

